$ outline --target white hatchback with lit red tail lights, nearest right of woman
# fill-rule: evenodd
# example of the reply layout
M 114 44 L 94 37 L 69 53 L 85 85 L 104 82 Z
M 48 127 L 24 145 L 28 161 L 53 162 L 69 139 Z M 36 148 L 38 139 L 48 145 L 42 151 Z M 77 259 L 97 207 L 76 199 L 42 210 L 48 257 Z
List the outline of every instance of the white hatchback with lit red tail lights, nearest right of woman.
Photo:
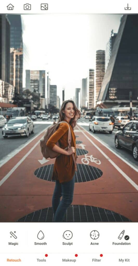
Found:
M 108 131 L 112 134 L 113 123 L 109 117 L 93 117 L 90 124 L 89 130 L 95 133 L 96 131 Z

